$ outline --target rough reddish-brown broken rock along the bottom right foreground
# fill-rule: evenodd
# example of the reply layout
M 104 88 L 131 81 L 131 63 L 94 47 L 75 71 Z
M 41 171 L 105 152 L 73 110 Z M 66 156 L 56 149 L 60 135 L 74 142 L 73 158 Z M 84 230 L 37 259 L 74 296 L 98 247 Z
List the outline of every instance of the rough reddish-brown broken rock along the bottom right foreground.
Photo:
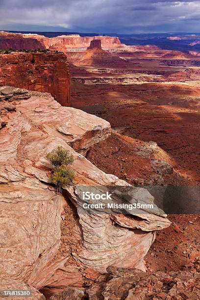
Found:
M 200 299 L 200 273 L 182 271 L 148 275 L 136 269 L 115 267 L 108 267 L 107 272 L 104 281 L 87 290 L 89 300 Z

